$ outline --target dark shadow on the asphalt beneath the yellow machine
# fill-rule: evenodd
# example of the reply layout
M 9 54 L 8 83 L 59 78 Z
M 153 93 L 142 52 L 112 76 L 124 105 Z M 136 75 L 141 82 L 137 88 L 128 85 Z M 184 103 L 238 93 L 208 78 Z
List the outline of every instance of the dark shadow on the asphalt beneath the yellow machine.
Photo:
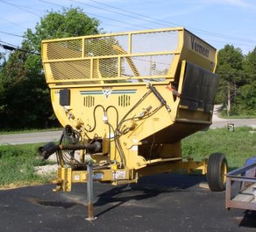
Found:
M 130 200 L 140 201 L 156 197 L 161 193 L 189 191 L 190 187 L 205 181 L 206 178 L 203 175 L 159 174 L 141 177 L 138 184 L 116 186 L 98 195 L 99 198 L 94 206 L 106 204 L 111 204 L 111 206 L 95 216 L 99 217 Z

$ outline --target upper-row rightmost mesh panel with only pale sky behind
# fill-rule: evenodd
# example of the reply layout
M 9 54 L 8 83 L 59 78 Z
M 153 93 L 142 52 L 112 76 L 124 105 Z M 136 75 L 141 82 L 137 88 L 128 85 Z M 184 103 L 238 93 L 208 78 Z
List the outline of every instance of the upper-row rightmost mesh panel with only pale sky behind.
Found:
M 176 50 L 178 31 L 147 32 L 131 35 L 131 53 L 167 52 Z

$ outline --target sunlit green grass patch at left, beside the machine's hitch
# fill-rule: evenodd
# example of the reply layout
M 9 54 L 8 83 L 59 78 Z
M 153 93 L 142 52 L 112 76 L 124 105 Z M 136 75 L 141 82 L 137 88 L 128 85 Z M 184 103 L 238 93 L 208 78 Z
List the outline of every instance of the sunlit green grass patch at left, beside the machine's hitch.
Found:
M 49 164 L 37 159 L 37 148 L 42 144 L 2 145 L 0 146 L 0 187 L 46 183 L 51 177 L 37 175 L 35 166 Z

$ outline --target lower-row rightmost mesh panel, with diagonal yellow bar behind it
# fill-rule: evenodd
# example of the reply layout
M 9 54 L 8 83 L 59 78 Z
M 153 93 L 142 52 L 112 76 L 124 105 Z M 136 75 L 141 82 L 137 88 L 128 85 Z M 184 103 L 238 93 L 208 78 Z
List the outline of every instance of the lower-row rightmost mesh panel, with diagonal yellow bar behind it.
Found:
M 174 55 L 150 55 L 121 58 L 121 77 L 167 75 Z M 129 64 L 130 63 L 130 64 Z

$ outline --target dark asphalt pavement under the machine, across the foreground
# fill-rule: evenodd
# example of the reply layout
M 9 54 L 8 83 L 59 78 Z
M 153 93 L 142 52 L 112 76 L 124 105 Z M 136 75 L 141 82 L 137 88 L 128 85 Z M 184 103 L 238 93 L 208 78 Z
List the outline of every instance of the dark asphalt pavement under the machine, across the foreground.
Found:
M 225 193 L 201 188 L 200 175 L 162 174 L 138 184 L 94 184 L 95 215 L 86 218 L 86 184 L 0 191 L 0 231 L 255 231 L 256 214 L 225 209 Z

